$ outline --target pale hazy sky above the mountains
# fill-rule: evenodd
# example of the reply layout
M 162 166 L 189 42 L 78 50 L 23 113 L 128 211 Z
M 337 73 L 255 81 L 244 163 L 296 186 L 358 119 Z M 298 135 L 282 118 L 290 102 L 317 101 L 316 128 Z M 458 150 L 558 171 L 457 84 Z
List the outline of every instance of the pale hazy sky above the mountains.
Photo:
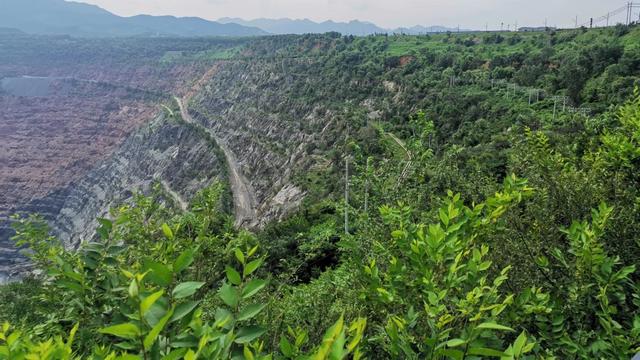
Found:
M 500 28 L 500 23 L 567 26 L 625 5 L 626 0 L 77 0 L 118 15 L 359 19 L 383 27 L 445 25 Z M 616 18 L 623 21 L 626 14 Z M 636 18 L 638 15 L 636 14 Z M 614 21 L 612 19 L 612 21 Z M 511 25 L 513 26 L 513 25 Z

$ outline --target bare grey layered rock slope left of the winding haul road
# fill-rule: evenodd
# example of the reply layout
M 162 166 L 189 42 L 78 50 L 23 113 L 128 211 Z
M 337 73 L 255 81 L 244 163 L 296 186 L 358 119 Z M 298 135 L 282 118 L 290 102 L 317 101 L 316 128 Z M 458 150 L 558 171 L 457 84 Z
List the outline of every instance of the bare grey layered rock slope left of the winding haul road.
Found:
M 197 129 L 160 115 L 84 177 L 18 210 L 42 214 L 53 234 L 73 248 L 94 235 L 97 217 L 107 216 L 132 192 L 146 192 L 154 183 L 178 202 L 189 201 L 225 173 L 224 159 L 217 153 L 215 144 Z M 9 229 L 5 225 L 0 231 L 6 234 Z M 14 275 L 24 265 L 17 250 L 0 240 L 0 277 Z

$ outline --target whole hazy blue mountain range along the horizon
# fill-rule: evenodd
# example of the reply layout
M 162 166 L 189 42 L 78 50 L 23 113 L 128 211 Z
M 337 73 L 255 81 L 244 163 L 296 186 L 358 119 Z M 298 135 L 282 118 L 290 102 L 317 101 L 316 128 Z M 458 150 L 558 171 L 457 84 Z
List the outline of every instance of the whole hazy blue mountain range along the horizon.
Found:
M 307 34 L 339 32 L 344 35 L 425 34 L 457 31 L 441 26 L 385 29 L 376 24 L 314 22 L 309 19 L 221 18 L 137 15 L 123 17 L 95 5 L 65 0 L 2 0 L 0 26 L 30 34 L 77 37 L 118 36 L 258 36 L 267 34 Z M 462 30 L 465 31 L 465 30 Z

